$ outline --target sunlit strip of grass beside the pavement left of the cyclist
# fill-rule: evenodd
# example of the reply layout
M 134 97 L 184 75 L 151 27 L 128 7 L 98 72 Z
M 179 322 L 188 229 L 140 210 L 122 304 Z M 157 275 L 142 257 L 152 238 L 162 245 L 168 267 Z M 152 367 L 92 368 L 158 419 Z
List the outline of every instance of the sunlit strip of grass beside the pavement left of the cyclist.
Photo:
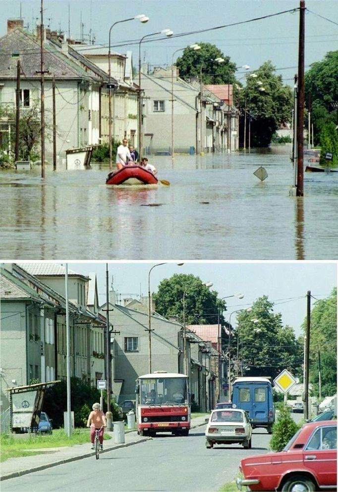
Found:
M 104 438 L 110 439 L 111 437 L 105 433 Z M 73 446 L 75 444 L 86 444 L 89 442 L 89 429 L 74 429 L 70 437 L 67 436 L 64 429 L 54 429 L 53 434 L 32 435 L 22 440 L 8 434 L 1 434 L 0 461 L 3 462 L 9 458 L 41 454 L 44 452 L 42 449 L 48 450 L 49 448 Z

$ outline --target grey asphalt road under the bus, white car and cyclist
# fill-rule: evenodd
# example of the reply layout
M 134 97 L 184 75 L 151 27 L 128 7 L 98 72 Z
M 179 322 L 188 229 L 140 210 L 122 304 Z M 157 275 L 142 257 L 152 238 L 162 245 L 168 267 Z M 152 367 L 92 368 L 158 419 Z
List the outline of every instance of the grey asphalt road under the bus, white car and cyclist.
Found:
M 1 492 L 217 491 L 238 473 L 240 460 L 268 452 L 270 435 L 255 429 L 252 449 L 231 444 L 205 447 L 205 427 L 188 437 L 160 434 L 117 449 L 1 483 Z

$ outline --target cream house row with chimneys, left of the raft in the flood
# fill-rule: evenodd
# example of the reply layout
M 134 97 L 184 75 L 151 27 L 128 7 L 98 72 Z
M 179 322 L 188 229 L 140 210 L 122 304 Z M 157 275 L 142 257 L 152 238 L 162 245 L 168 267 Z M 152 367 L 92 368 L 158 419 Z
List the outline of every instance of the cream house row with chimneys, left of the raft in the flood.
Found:
M 44 31 L 46 156 L 53 152 L 53 78 L 56 85 L 56 150 L 109 141 L 109 97 L 112 100 L 112 136 L 127 137 L 135 145 L 137 90 L 132 79 L 131 52 L 113 53 L 112 78 L 116 90 L 107 89 L 108 49 L 73 44 L 63 35 Z M 17 61 L 21 63 L 20 108 L 29 111 L 41 105 L 40 26 L 36 36 L 23 29 L 23 20 L 7 21 L 7 34 L 0 38 L 0 105 L 15 109 Z M 95 51 L 95 53 L 94 53 Z M 6 131 L 6 130 L 5 130 Z M 3 140 L 3 139 L 2 139 Z

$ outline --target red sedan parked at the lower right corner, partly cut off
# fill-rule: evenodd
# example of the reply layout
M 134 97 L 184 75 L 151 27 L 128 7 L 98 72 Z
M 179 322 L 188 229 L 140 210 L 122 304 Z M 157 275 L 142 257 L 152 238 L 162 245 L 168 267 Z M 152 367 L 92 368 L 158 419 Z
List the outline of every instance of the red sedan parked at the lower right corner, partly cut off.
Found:
M 239 470 L 239 490 L 337 490 L 337 421 L 305 423 L 281 452 L 244 458 Z

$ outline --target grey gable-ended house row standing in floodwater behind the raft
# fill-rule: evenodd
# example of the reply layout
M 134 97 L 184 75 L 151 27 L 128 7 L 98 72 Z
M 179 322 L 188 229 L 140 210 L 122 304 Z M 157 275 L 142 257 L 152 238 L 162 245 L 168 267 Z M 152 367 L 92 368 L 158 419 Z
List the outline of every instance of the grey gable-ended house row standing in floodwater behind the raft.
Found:
M 228 141 L 230 121 L 237 128 L 236 115 L 230 114 L 231 99 L 217 86 L 197 79 L 184 81 L 177 67 L 141 71 L 143 143 L 147 153 L 204 153 L 237 149 Z M 221 86 L 224 88 L 224 86 Z M 228 91 L 230 90 L 227 86 Z M 231 87 L 232 91 L 232 87 Z M 232 110 L 231 110 L 232 111 Z M 232 114 L 232 113 L 231 113 Z

